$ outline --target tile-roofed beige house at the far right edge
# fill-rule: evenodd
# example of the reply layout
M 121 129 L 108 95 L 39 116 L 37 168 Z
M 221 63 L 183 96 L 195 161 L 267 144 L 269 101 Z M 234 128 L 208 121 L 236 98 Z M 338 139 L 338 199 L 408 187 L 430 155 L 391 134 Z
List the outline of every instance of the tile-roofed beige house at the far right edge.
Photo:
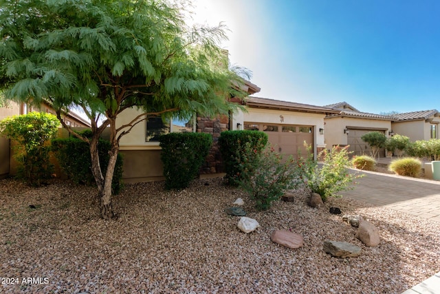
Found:
M 412 142 L 439 138 L 440 113 L 436 109 L 393 114 L 394 134 L 408 136 Z

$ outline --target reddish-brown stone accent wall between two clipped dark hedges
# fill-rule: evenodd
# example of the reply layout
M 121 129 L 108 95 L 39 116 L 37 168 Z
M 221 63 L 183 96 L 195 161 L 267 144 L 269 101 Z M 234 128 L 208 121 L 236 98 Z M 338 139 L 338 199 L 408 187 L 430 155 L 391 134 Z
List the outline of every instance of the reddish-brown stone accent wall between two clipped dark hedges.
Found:
M 223 172 L 223 162 L 219 150 L 220 133 L 229 130 L 228 116 L 219 116 L 214 119 L 197 117 L 197 132 L 212 135 L 212 147 L 206 162 L 201 167 L 200 174 L 218 174 Z

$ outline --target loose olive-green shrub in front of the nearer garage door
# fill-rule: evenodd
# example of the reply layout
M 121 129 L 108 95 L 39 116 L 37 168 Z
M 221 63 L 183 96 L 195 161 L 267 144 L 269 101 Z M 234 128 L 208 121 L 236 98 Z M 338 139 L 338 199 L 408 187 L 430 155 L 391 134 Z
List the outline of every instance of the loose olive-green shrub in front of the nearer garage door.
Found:
M 295 189 L 301 183 L 294 158 L 283 160 L 283 156 L 273 147 L 265 147 L 255 156 L 254 146 L 247 142 L 241 159 L 250 162 L 251 166 L 243 170 L 239 186 L 250 194 L 256 209 L 269 209 L 272 202 L 279 200 L 286 190 Z

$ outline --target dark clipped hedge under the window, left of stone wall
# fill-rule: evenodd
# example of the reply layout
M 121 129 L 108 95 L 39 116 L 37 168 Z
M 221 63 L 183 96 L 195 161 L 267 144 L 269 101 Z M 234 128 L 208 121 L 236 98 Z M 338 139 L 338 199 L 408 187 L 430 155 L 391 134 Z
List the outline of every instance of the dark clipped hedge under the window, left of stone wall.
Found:
M 159 136 L 166 189 L 185 189 L 199 174 L 212 145 L 204 133 L 169 133 Z

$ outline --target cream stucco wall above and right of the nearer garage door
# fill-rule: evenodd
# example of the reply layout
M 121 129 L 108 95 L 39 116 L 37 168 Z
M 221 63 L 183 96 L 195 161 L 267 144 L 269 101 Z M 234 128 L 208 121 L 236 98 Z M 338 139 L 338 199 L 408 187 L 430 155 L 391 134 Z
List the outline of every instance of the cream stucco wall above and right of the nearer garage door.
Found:
M 248 112 L 245 112 L 243 114 L 243 121 L 252 123 L 276 123 L 285 125 L 313 126 L 315 127 L 314 142 L 316 142 L 316 147 L 325 147 L 325 135 L 319 134 L 320 128 L 325 129 L 324 117 L 325 114 L 309 114 L 304 112 L 289 112 L 285 110 L 248 108 Z

